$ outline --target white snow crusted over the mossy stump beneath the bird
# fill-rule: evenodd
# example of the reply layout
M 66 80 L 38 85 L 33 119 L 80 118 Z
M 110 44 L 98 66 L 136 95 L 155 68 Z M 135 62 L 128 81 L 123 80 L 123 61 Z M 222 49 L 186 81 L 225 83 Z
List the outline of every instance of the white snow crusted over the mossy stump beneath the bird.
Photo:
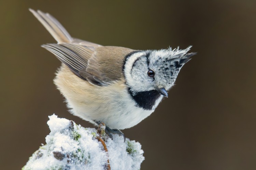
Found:
M 46 144 L 29 158 L 23 170 L 43 169 L 107 169 L 108 160 L 112 170 L 140 169 L 144 160 L 139 142 L 122 136 L 100 137 L 94 128 L 83 128 L 73 121 L 49 116 L 50 134 Z M 105 139 L 107 152 L 98 138 Z

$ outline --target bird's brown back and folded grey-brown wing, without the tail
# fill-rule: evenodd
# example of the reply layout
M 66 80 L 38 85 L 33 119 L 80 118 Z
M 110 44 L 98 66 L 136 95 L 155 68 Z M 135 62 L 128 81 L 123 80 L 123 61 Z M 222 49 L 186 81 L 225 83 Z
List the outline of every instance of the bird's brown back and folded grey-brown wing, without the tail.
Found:
M 124 78 L 125 56 L 134 51 L 123 47 L 90 47 L 69 43 L 42 47 L 52 52 L 75 75 L 98 86 Z

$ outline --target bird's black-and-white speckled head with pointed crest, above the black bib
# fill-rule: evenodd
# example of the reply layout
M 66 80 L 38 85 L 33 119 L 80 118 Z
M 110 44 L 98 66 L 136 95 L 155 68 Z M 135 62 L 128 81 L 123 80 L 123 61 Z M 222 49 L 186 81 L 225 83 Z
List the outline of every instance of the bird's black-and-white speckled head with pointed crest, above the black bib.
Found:
M 150 91 L 167 97 L 182 66 L 196 54 L 187 53 L 190 48 L 134 51 L 127 55 L 124 74 L 130 94 Z

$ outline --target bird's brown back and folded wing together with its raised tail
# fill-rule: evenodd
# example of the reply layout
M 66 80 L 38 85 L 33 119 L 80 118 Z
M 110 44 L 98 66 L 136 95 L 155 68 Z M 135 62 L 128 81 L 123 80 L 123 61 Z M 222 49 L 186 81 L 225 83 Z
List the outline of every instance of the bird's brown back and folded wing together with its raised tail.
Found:
M 50 14 L 29 10 L 58 42 L 42 47 L 56 55 L 75 75 L 99 86 L 123 78 L 124 58 L 133 50 L 123 47 L 103 47 L 73 38 Z

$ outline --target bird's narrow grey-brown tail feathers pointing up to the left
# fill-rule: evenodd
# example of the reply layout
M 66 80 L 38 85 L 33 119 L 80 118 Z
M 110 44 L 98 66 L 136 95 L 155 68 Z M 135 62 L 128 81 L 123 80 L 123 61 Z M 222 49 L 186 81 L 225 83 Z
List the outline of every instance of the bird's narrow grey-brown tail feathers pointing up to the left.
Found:
M 58 44 L 70 43 L 73 41 L 73 38 L 70 36 L 67 30 L 53 16 L 39 10 L 34 11 L 29 9 L 29 11 L 43 24 L 43 26 L 49 31 Z

